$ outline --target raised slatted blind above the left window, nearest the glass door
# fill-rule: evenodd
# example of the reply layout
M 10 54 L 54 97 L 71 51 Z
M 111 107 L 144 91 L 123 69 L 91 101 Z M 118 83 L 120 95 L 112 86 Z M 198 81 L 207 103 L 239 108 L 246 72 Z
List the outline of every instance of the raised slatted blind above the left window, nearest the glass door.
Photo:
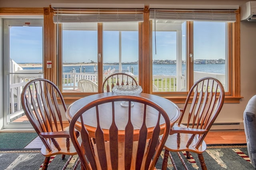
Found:
M 144 6 L 137 8 L 58 8 L 54 9 L 54 23 L 66 22 L 142 22 Z

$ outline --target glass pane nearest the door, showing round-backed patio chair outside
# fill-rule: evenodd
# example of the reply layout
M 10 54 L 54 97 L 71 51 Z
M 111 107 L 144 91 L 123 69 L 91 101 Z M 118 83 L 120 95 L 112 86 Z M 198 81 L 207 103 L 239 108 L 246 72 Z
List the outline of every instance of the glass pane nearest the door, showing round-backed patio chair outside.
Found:
M 62 24 L 62 91 L 98 92 L 97 23 Z

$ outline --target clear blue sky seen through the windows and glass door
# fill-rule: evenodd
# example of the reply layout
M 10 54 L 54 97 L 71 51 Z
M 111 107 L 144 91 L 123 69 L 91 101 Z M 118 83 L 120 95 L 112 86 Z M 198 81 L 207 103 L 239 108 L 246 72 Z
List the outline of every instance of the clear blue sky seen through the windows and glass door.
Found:
M 186 25 L 182 24 L 182 59 L 186 54 Z M 103 32 L 104 63 L 118 62 L 119 31 Z M 153 59 L 176 59 L 176 31 L 152 34 Z M 10 28 L 10 57 L 16 63 L 42 63 L 42 27 Z M 63 30 L 63 62 L 97 61 L 96 30 Z M 122 31 L 122 62 L 138 61 L 138 31 Z M 225 24 L 194 22 L 194 59 L 225 59 Z

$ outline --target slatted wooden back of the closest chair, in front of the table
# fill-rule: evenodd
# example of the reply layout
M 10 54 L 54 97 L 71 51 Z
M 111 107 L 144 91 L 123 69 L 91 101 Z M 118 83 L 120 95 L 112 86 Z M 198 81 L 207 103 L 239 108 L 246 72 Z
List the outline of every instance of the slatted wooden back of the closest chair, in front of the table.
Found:
M 116 122 L 118 108 L 121 107 L 120 101 L 129 102 L 129 107 L 126 108 L 127 119 Z M 140 113 L 132 113 L 131 102 L 134 102 L 133 107 L 140 107 Z M 154 127 L 150 128 L 147 127 L 147 123 L 152 119 L 150 118 L 152 109 L 156 114 L 154 115 Z M 87 111 L 95 114 L 94 127 L 96 130 L 93 134 L 89 133 L 91 127 L 84 125 Z M 136 122 L 134 119 L 132 121 L 131 117 L 136 115 L 143 117 L 141 119 L 143 121 Z M 104 125 L 106 122 L 104 117 L 110 117 L 109 120 L 112 120 L 108 128 Z M 160 119 L 164 120 L 161 125 Z M 120 129 L 120 125 L 125 128 Z M 75 137 L 75 128 L 80 129 L 81 145 Z M 148 129 L 151 130 L 151 135 L 147 135 Z M 112 96 L 95 100 L 79 109 L 70 122 L 70 137 L 80 157 L 81 164 L 86 170 L 141 168 L 152 170 L 169 132 L 170 120 L 167 113 L 159 105 L 138 96 Z M 159 140 L 161 134 L 162 139 Z M 88 164 L 88 162 L 90 163 Z

